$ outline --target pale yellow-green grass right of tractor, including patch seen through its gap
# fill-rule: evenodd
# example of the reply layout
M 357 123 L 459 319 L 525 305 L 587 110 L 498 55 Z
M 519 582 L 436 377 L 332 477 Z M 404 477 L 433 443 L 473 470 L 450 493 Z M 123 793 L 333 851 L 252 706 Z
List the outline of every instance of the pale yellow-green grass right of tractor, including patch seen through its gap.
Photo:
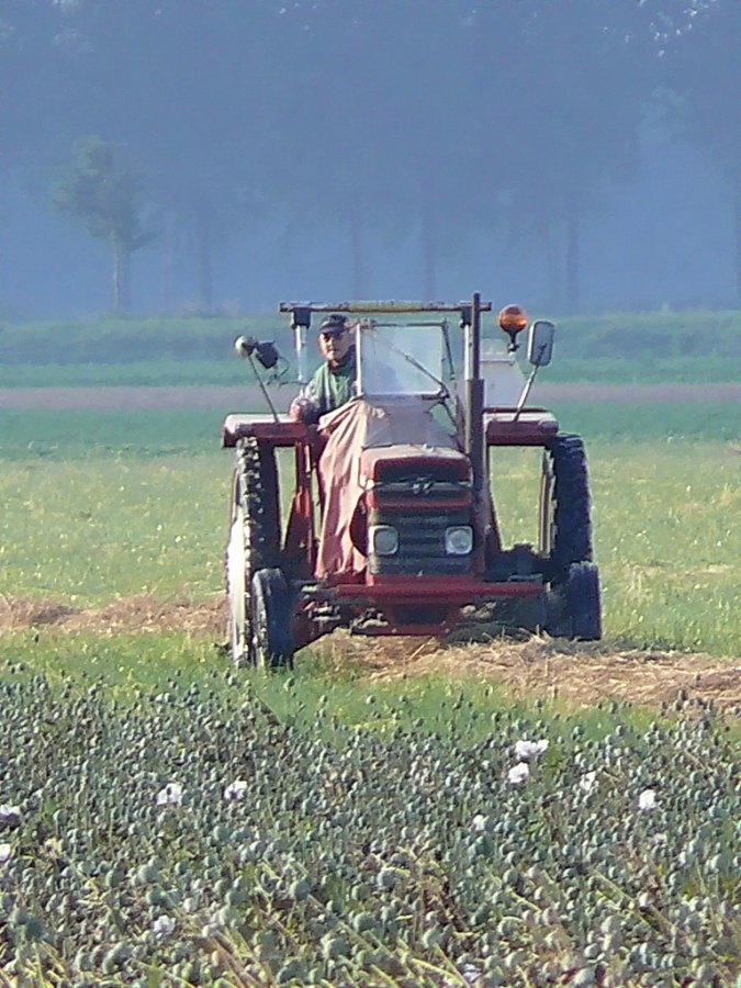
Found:
M 737 655 L 741 460 L 719 442 L 588 447 L 606 638 Z M 508 543 L 537 538 L 539 457 L 512 451 L 496 485 Z

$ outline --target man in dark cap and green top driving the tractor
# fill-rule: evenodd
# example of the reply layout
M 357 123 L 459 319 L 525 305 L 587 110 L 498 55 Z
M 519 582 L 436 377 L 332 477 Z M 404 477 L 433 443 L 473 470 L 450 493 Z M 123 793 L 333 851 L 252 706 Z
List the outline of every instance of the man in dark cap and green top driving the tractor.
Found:
M 315 425 L 322 415 L 353 396 L 356 380 L 355 322 L 333 313 L 319 326 L 318 344 L 325 362 L 308 383 L 305 395 L 295 398 L 289 415 L 295 422 Z

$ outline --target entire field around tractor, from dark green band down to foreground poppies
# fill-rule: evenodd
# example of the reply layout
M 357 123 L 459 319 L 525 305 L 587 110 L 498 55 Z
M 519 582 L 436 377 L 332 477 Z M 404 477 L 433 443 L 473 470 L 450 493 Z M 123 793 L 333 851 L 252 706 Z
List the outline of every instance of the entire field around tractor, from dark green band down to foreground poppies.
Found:
M 218 648 L 221 412 L 2 407 L 0 985 L 737 984 L 741 411 L 555 411 L 603 642 L 266 677 Z

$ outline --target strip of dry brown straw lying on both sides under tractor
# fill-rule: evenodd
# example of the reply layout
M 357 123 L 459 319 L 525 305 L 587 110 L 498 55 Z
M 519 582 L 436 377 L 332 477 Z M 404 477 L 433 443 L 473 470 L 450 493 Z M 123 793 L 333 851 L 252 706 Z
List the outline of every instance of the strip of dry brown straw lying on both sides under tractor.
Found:
M 0 636 L 181 631 L 221 643 L 226 627 L 222 597 L 201 604 L 147 595 L 104 607 L 75 608 L 52 600 L 0 598 Z M 566 707 L 599 700 L 659 706 L 712 703 L 741 715 L 741 660 L 670 651 L 615 651 L 598 643 L 492 639 L 486 644 L 440 645 L 431 638 L 356 638 L 336 631 L 317 649 L 338 670 L 348 663 L 370 682 L 449 675 L 490 680 L 513 699 L 543 697 Z M 301 660 L 299 660 L 301 661 Z

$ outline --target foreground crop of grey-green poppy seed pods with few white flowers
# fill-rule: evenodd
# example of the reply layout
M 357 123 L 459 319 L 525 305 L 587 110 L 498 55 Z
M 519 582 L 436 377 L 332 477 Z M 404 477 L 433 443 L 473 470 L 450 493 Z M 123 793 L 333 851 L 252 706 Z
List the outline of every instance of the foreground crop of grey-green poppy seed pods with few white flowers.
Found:
M 407 685 L 348 723 L 336 692 L 272 687 L 279 716 L 244 675 L 111 699 L 92 669 L 78 692 L 5 665 L 11 984 L 734 983 L 738 750 L 712 709 L 584 722 Z

